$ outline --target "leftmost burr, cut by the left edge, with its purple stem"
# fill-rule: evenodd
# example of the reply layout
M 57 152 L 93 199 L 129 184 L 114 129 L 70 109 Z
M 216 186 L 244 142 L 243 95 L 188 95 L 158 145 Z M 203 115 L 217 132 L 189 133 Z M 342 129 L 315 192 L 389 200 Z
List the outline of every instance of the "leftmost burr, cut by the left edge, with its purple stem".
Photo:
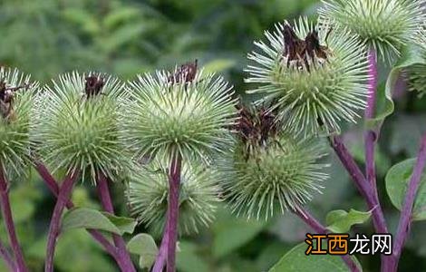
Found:
M 27 271 L 27 268 L 15 234 L 8 191 L 9 182 L 22 178 L 31 162 L 30 150 L 34 142 L 30 134 L 36 124 L 33 108 L 37 89 L 38 83 L 31 83 L 29 76 L 0 68 L 0 206 L 15 261 L 3 245 L 0 246 L 6 264 L 11 270 L 19 271 Z

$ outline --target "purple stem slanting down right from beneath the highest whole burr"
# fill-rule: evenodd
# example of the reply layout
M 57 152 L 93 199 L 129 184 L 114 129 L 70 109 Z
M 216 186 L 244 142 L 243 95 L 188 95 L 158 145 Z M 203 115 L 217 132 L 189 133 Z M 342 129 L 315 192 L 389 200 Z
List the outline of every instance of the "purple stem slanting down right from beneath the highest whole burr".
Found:
M 365 199 L 368 209 L 372 210 L 374 229 L 377 233 L 388 233 L 382 207 L 378 199 L 375 198 L 373 189 L 365 180 L 363 172 L 360 170 L 355 160 L 353 160 L 351 153 L 346 149 L 344 142 L 339 136 L 335 136 L 331 142 L 337 157 L 351 176 L 356 188 L 363 196 L 363 199 Z

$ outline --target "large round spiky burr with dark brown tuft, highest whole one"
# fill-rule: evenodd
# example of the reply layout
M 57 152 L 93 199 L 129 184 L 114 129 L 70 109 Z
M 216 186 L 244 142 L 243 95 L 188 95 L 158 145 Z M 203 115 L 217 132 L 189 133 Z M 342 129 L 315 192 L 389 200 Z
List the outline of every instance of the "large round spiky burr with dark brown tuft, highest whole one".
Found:
M 365 107 L 368 65 L 365 47 L 356 38 L 334 32 L 325 24 L 300 18 L 292 26 L 276 24 L 266 42 L 249 53 L 249 91 L 271 102 L 287 131 L 329 134 L 341 121 L 355 122 Z

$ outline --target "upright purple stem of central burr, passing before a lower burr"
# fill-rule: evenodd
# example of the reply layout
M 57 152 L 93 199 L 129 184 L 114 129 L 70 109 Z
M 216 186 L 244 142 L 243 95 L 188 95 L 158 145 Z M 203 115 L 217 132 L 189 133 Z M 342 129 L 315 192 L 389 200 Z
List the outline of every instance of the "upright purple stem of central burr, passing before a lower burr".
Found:
M 180 164 L 179 154 L 175 154 L 170 163 L 169 169 L 169 207 L 168 207 L 168 232 L 167 238 L 167 272 L 176 271 L 176 242 L 178 240 L 179 222 L 179 186 L 180 186 Z

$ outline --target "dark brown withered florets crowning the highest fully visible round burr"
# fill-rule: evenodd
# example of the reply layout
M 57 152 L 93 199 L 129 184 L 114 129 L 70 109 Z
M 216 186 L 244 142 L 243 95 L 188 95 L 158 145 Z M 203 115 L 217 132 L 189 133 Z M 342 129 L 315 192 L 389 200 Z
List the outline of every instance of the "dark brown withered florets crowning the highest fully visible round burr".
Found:
M 328 38 L 330 31 L 326 34 L 325 40 Z M 308 59 L 327 59 L 329 52 L 328 47 L 320 44 L 318 32 L 316 30 L 306 34 L 305 40 L 302 40 L 295 34 L 291 25 L 285 24 L 283 36 L 283 57 L 286 58 L 287 67 L 290 66 L 290 62 L 295 61 L 296 67 L 303 67 L 305 65 L 306 70 L 309 72 L 310 67 Z

